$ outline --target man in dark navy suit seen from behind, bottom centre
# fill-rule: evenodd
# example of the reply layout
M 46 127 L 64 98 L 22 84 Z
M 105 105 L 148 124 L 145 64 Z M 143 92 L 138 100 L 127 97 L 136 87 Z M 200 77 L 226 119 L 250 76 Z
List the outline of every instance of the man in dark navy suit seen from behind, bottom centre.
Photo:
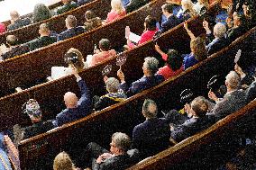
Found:
M 150 99 L 144 101 L 142 114 L 146 121 L 134 127 L 132 148 L 139 149 L 141 157 L 145 158 L 169 148 L 169 124 L 157 117 L 157 104 Z

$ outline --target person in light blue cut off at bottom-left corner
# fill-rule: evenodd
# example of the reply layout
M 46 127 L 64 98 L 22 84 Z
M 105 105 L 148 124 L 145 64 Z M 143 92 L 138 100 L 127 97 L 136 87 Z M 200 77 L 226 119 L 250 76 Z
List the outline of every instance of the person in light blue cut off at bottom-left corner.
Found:
M 0 133 L 0 169 L 20 169 L 19 152 L 12 140 Z

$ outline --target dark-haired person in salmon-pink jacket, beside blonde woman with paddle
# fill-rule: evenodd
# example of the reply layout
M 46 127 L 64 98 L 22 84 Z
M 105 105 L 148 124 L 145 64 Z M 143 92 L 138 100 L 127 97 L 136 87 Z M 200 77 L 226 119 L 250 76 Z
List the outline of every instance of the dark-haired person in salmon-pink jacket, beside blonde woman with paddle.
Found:
M 87 60 L 88 67 L 93 67 L 97 63 L 101 63 L 106 58 L 111 58 L 116 55 L 114 49 L 110 49 L 110 41 L 107 39 L 102 39 L 98 43 L 99 49 L 95 50 L 95 54 L 93 55 L 90 61 Z

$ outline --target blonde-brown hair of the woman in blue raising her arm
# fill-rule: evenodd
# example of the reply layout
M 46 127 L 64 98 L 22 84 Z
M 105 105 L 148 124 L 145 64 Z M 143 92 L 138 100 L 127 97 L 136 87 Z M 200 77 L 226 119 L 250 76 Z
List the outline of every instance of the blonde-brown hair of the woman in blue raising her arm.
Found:
M 206 41 L 201 37 L 190 41 L 190 49 L 197 61 L 202 61 L 207 58 Z

